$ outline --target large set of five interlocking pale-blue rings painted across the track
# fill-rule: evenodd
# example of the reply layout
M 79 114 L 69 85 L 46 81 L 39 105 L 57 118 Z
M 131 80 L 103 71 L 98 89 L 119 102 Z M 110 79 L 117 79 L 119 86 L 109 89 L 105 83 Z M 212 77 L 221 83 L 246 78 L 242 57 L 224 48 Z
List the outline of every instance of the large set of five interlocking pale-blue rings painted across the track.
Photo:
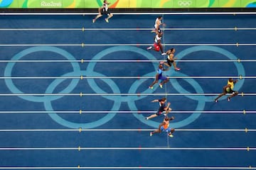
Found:
M 207 47 L 206 46 L 190 47 L 186 50 L 183 50 L 183 51 L 179 52 L 178 55 L 176 55 L 176 56 L 179 59 L 181 59 L 182 57 L 185 57 L 186 55 L 188 55 L 191 52 L 197 52 L 197 51 L 201 51 L 201 50 L 210 50 L 210 51 L 213 51 L 213 52 L 219 52 L 222 55 L 225 55 L 228 58 L 230 58 L 230 60 L 237 59 L 235 57 L 235 55 L 228 52 L 227 50 L 223 50 L 220 47 L 211 47 L 211 46 L 210 47 L 209 46 L 207 46 Z M 31 47 L 31 48 L 28 48 L 28 49 L 23 50 L 21 52 L 18 52 L 18 54 L 15 55 L 12 58 L 12 60 L 20 60 L 25 55 L 28 55 L 31 52 L 37 52 L 37 51 L 56 52 L 60 55 L 63 55 L 67 60 L 75 60 L 75 58 L 72 55 L 70 55 L 70 53 L 66 52 L 65 50 L 61 50 L 58 47 Z M 95 55 L 95 57 L 92 57 L 92 60 L 100 60 L 105 55 L 108 55 L 112 52 L 120 52 L 120 51 L 137 52 L 139 55 L 143 55 L 144 57 L 146 57 L 149 60 L 156 60 L 156 58 L 153 55 L 151 55 L 151 53 L 149 53 L 145 50 L 142 50 L 138 47 L 131 47 L 131 46 L 117 46 L 117 47 L 107 48 L 106 50 L 102 50 L 101 52 L 99 52 L 97 55 Z M 95 70 L 94 70 L 95 65 L 96 65 L 95 62 L 90 62 L 87 66 L 87 69 L 85 71 L 82 71 L 82 70 L 80 70 L 80 67 L 79 67 L 78 63 L 71 63 L 71 66 L 73 67 L 73 72 L 63 74 L 61 77 L 80 77 L 80 75 L 82 75 L 84 77 L 86 77 L 86 75 L 90 75 L 92 77 L 105 77 L 104 74 L 95 72 Z M 5 77 L 11 77 L 11 71 L 14 68 L 14 66 L 15 66 L 15 64 L 13 62 L 7 63 L 6 69 L 5 69 L 5 72 L 4 72 Z M 235 63 L 235 66 L 238 68 L 238 73 L 239 74 L 245 75 L 245 70 L 242 67 L 242 64 Z M 185 74 L 182 74 L 180 72 L 177 72 L 176 74 L 178 76 L 186 76 Z M 145 75 L 143 75 L 143 77 L 149 77 L 149 76 L 152 76 L 152 75 L 155 75 L 155 72 L 150 72 L 148 74 L 145 74 Z M 53 93 L 53 91 L 58 86 L 58 84 L 61 84 L 64 80 L 65 79 L 55 79 L 47 87 L 46 94 Z M 144 81 L 146 81 L 146 80 L 147 79 L 137 79 L 136 81 L 134 81 L 134 83 L 130 87 L 128 93 L 136 93 L 139 86 L 141 84 L 143 84 Z M 194 79 L 184 79 L 184 80 L 187 81 L 188 84 L 191 84 L 193 86 L 193 88 L 196 90 L 197 93 L 203 93 L 203 89 L 198 84 L 197 81 L 195 81 Z M 6 85 L 11 90 L 12 93 L 14 93 L 14 94 L 23 94 L 23 92 L 20 91 L 14 85 L 14 82 L 11 81 L 11 79 L 6 79 L 5 81 L 6 81 Z M 66 94 L 70 93 L 71 91 L 73 91 L 73 89 L 75 89 L 75 86 L 78 85 L 79 81 L 80 81 L 79 79 L 72 79 L 70 84 L 65 89 L 63 89 L 63 91 L 60 91 L 60 93 L 66 93 Z M 121 91 L 119 89 L 119 86 L 117 86 L 117 84 L 112 79 L 102 79 L 102 81 L 104 81 L 105 84 L 108 84 L 110 86 L 110 89 L 112 90 L 112 92 L 114 94 L 120 94 L 121 93 Z M 97 85 L 97 83 L 95 82 L 94 79 L 87 79 L 87 82 L 90 85 L 91 89 L 93 91 L 95 91 L 95 93 L 97 93 L 97 94 L 107 94 L 106 91 L 104 91 L 103 89 L 100 88 L 100 86 Z M 180 84 L 178 84 L 178 81 L 176 81 L 176 79 L 172 79 L 171 84 L 176 89 L 176 91 L 178 91 L 179 93 L 190 93 L 189 91 L 186 91 L 185 89 L 183 89 L 183 87 Z M 243 84 L 243 80 L 240 81 L 240 84 L 238 84 L 238 89 L 240 89 L 242 84 Z M 153 91 L 151 89 L 150 90 L 146 89 L 145 91 L 142 91 L 141 94 L 153 93 L 155 90 L 156 89 L 154 89 Z M 64 125 L 65 127 L 68 127 L 68 128 L 97 128 L 98 126 L 103 125 L 103 124 L 107 123 L 108 121 L 110 121 L 112 118 L 114 118 L 114 115 L 116 115 L 116 113 L 108 113 L 103 118 L 100 118 L 99 120 L 95 120 L 94 122 L 91 122 L 91 123 L 74 123 L 74 122 L 70 122 L 69 120 L 65 120 L 65 119 L 61 118 L 56 113 L 53 113 L 54 108 L 53 108 L 51 102 L 56 100 L 56 99 L 59 99 L 63 96 L 41 96 L 41 97 L 38 97 L 38 96 L 19 96 L 19 97 L 21 97 L 21 98 L 23 98 L 24 100 L 27 100 L 27 101 L 43 102 L 43 104 L 46 108 L 46 111 L 51 112 L 51 113 L 48 113 L 50 118 L 55 120 L 56 123 L 59 123 L 60 125 Z M 127 102 L 131 111 L 137 111 L 138 108 L 135 104 L 135 101 L 141 100 L 142 98 L 145 98 L 146 96 L 102 96 L 102 97 L 107 98 L 108 100 L 114 102 L 114 104 L 111 108 L 111 111 L 119 111 L 119 108 L 120 108 L 122 102 Z M 206 101 L 210 101 L 210 102 L 213 101 L 212 98 L 207 97 L 207 96 L 186 96 L 186 97 L 198 101 L 198 106 L 196 106 L 195 111 L 203 111 L 203 109 L 205 107 L 205 104 L 206 104 Z M 159 125 L 159 123 L 157 123 L 153 120 L 145 120 L 144 116 L 141 115 L 141 114 L 134 113 L 133 115 L 135 116 L 135 118 L 140 120 L 142 123 L 145 123 L 146 125 L 149 125 L 151 127 L 157 128 L 158 125 Z M 181 128 L 185 125 L 188 125 L 188 124 L 192 123 L 200 115 L 201 115 L 201 113 L 192 113 L 190 116 L 188 116 L 188 118 L 186 118 L 184 120 L 181 120 L 179 122 L 176 122 L 176 123 L 172 123 L 171 126 L 174 127 L 174 128 Z

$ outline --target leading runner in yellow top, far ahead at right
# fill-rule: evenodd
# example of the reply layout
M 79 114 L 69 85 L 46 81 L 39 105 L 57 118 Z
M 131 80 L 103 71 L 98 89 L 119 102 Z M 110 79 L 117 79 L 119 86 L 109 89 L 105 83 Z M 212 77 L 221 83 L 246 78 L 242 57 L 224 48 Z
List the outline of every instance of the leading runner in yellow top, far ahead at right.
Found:
M 223 87 L 223 93 L 220 94 L 217 98 L 215 98 L 214 101 L 218 102 L 218 98 L 220 98 L 221 96 L 224 96 L 226 94 L 231 94 L 230 96 L 228 96 L 228 101 L 230 101 L 230 98 L 233 98 L 234 96 L 237 96 L 238 91 L 233 90 L 236 82 L 238 82 L 238 79 L 235 80 L 235 81 L 232 78 L 228 79 L 228 84 Z

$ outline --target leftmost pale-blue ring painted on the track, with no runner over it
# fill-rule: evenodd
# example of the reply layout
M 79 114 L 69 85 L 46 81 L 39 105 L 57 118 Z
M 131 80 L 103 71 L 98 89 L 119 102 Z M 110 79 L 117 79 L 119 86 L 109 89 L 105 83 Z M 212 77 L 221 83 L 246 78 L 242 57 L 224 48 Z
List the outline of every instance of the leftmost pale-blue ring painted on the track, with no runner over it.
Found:
M 20 60 L 25 55 L 31 54 L 32 52 L 39 52 L 39 51 L 55 52 L 60 55 L 63 55 L 68 60 L 75 60 L 75 57 L 73 57 L 73 55 L 71 55 L 69 52 L 62 50 L 58 47 L 50 47 L 50 46 L 30 47 L 26 50 L 18 52 L 18 54 L 16 54 L 11 60 Z M 12 72 L 12 69 L 14 68 L 15 64 L 16 64 L 15 62 L 7 63 L 6 69 L 4 70 L 4 77 L 11 77 L 11 72 Z M 78 63 L 71 62 L 71 65 L 73 67 L 74 72 L 80 72 L 80 66 Z M 5 79 L 4 81 L 6 82 L 6 86 L 10 89 L 10 91 L 13 94 L 23 94 L 23 92 L 20 91 L 14 85 L 14 82 L 12 81 L 12 79 Z M 70 85 L 68 85 L 65 89 L 63 89 L 63 91 L 60 91 L 59 93 L 65 93 L 65 94 L 70 93 L 70 91 L 73 91 L 73 89 L 75 89 L 75 86 L 77 86 L 78 82 L 79 82 L 79 79 L 73 79 L 70 82 Z M 18 96 L 18 97 L 23 98 L 24 100 L 27 100 L 27 101 L 44 102 L 46 100 L 51 100 L 51 101 L 57 100 L 58 98 L 62 98 L 63 96 L 48 96 L 48 97 L 46 97 L 46 96 Z

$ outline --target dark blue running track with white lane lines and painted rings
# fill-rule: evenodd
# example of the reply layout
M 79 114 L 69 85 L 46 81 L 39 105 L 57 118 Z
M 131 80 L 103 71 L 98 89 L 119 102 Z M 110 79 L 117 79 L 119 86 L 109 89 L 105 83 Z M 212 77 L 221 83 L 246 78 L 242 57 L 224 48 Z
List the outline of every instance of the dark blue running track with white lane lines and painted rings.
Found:
M 255 15 L 163 15 L 181 71 L 148 89 L 157 16 L 1 15 L 0 169 L 255 169 Z M 172 138 L 145 120 L 162 97 Z

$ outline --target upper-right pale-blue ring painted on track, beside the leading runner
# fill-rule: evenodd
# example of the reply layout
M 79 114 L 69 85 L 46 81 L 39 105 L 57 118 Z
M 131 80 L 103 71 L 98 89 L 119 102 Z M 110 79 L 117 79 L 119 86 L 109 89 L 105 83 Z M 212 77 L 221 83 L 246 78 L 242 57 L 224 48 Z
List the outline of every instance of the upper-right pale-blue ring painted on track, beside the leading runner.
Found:
M 183 50 L 179 52 L 176 57 L 181 60 L 183 57 L 186 55 L 190 54 L 191 52 L 198 52 L 198 51 L 213 51 L 213 52 L 218 52 L 222 55 L 225 55 L 228 57 L 230 60 L 238 60 L 238 57 L 235 57 L 231 52 L 224 50 L 223 48 L 220 47 L 215 47 L 215 46 L 196 46 L 196 47 L 190 47 L 187 48 L 186 50 Z M 238 69 L 238 75 L 245 76 L 245 68 L 242 66 L 242 63 L 235 62 L 235 67 Z M 245 79 L 242 79 L 241 81 L 238 81 L 237 84 L 235 84 L 236 89 L 240 89 L 242 87 L 242 84 L 244 83 Z M 174 86 L 175 84 L 175 86 Z M 178 84 L 178 81 L 176 79 L 171 81 L 171 85 L 174 86 L 174 88 L 178 91 L 180 90 L 181 93 L 190 93 L 186 89 L 183 89 L 183 87 Z M 197 100 L 197 96 L 187 96 L 188 98 L 191 98 L 193 100 Z M 214 101 L 214 96 L 206 96 L 206 101 L 212 102 Z M 220 98 L 220 100 L 223 100 L 224 98 Z

